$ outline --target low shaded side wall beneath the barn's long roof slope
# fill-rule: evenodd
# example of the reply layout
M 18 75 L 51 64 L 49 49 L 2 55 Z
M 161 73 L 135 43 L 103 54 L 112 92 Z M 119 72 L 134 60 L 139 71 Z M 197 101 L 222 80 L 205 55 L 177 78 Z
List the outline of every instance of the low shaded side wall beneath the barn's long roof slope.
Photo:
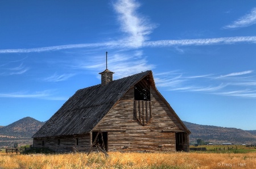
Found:
M 76 138 L 78 138 L 79 145 L 76 145 Z M 58 145 L 60 140 L 60 145 Z M 44 141 L 44 146 L 42 142 Z M 73 151 L 72 146 L 75 146 L 79 151 L 87 151 L 90 147 L 90 134 L 77 135 L 77 136 L 56 136 L 56 137 L 43 137 L 34 138 L 34 147 L 46 147 L 56 152 L 69 152 Z

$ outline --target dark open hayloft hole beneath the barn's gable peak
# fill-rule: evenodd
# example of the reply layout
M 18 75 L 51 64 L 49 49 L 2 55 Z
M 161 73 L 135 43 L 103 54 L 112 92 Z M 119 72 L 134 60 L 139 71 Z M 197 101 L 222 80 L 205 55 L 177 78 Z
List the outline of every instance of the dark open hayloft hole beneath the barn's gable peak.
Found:
M 148 76 L 135 84 L 134 99 L 150 101 L 150 82 Z

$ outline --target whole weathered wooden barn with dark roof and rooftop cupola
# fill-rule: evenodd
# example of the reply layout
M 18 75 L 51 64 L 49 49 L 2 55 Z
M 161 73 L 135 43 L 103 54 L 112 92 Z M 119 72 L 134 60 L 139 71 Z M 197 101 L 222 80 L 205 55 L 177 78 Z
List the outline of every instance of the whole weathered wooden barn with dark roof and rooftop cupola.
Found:
M 78 90 L 34 134 L 34 147 L 89 151 L 98 142 L 106 151 L 189 150 L 190 132 L 151 70 L 115 81 L 108 69 L 100 74 L 101 84 Z

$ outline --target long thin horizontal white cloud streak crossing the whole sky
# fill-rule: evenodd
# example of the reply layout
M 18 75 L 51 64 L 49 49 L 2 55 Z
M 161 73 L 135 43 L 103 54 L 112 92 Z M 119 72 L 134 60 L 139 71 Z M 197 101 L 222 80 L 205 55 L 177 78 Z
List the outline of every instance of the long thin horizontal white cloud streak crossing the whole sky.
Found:
M 144 41 L 142 47 L 177 47 L 177 46 L 205 46 L 205 45 L 230 45 L 237 43 L 256 43 L 256 36 L 220 37 L 212 39 L 184 39 L 184 40 L 158 40 Z M 108 43 L 94 44 L 72 44 L 53 47 L 31 48 L 31 49 L 1 49 L 1 53 L 32 53 L 47 52 L 54 50 L 76 49 L 76 48 L 97 48 L 108 47 L 109 49 L 133 49 L 139 45 L 131 45 L 127 41 L 110 41 Z

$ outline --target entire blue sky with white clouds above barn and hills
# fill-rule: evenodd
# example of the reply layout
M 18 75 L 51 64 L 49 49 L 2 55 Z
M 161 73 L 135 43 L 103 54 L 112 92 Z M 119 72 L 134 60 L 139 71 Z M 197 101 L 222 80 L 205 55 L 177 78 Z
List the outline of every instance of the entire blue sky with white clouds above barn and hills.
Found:
M 181 120 L 256 129 L 255 1 L 1 1 L 0 125 L 152 70 Z

